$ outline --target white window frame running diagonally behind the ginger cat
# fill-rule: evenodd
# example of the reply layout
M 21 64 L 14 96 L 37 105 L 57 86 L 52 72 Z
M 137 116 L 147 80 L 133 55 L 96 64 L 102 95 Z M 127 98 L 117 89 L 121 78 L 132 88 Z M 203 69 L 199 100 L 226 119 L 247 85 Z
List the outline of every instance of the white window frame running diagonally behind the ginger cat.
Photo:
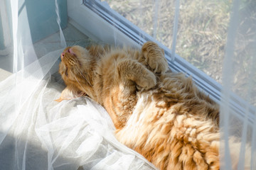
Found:
M 134 47 L 141 47 L 146 41 L 157 42 L 150 35 L 144 33 L 137 26 L 134 26 L 133 23 L 112 10 L 105 1 L 68 0 L 67 3 L 70 23 L 92 39 L 114 45 L 126 44 Z M 217 103 L 223 104 L 220 103 L 221 90 L 223 88 L 217 81 L 177 54 L 175 54 L 175 60 L 172 62 L 171 50 L 160 42 L 157 43 L 164 49 L 165 57 L 168 60 L 172 72 L 183 72 L 186 76 L 191 76 L 199 89 L 203 90 Z M 245 117 L 247 103 L 236 94 L 231 94 L 231 101 L 225 104 L 230 105 L 231 111 L 238 118 Z M 255 120 L 255 113 L 255 108 L 250 106 L 248 117 L 251 124 Z

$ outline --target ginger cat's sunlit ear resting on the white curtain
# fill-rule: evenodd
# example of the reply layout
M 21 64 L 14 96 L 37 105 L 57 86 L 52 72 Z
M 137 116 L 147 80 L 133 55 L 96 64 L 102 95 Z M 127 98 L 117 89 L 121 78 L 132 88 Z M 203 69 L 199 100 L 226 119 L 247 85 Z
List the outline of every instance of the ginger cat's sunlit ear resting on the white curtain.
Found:
M 86 94 L 77 88 L 75 86 L 67 86 L 60 95 L 60 98 L 56 99 L 55 101 L 65 101 L 65 100 L 71 100 L 73 98 L 79 98 L 80 96 L 86 96 Z

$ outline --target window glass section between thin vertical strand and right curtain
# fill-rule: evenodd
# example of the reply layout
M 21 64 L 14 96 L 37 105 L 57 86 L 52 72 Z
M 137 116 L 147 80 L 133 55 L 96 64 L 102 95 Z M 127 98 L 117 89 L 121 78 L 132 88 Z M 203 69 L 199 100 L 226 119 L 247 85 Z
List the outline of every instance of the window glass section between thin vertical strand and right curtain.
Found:
M 181 1 L 176 53 L 221 81 L 232 1 Z

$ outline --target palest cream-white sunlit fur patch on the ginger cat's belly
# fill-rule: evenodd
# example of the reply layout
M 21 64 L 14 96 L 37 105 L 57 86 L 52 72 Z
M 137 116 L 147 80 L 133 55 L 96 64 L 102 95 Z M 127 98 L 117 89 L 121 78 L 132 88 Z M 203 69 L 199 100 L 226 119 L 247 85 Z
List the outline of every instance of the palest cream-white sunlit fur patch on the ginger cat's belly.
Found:
M 156 108 L 156 103 L 148 97 L 146 94 L 140 96 L 127 124 L 122 130 L 117 131 L 116 137 L 124 145 L 133 148 L 149 145 L 146 143 L 147 139 L 151 135 L 159 134 L 155 132 L 159 121 L 158 115 L 164 110 Z

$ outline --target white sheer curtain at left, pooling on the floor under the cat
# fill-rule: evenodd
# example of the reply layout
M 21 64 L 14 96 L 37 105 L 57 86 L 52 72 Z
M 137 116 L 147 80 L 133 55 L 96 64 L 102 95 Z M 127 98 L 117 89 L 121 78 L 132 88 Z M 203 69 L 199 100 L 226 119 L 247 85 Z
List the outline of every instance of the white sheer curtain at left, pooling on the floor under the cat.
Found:
M 54 101 L 65 87 L 57 73 L 65 35 L 75 37 L 73 30 L 62 30 L 67 1 L 1 5 L 6 8 L 1 18 L 9 21 L 3 32 L 13 43 L 6 45 L 8 55 L 0 53 L 0 66 L 11 63 L 7 69 L 13 74 L 0 82 L 0 169 L 154 169 L 115 140 L 112 120 L 97 103 Z

